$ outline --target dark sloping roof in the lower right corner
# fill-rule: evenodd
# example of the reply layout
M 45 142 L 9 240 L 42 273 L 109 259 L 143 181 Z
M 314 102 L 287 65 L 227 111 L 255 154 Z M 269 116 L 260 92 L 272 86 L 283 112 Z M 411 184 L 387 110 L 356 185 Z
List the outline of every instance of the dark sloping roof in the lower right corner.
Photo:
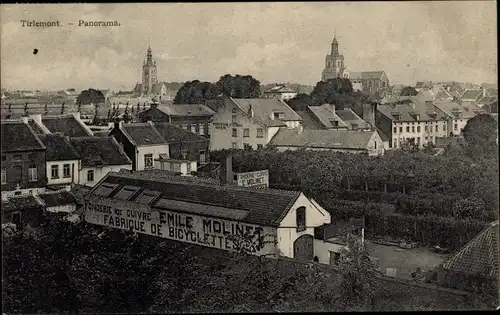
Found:
M 498 277 L 498 221 L 442 264 L 444 269 Z

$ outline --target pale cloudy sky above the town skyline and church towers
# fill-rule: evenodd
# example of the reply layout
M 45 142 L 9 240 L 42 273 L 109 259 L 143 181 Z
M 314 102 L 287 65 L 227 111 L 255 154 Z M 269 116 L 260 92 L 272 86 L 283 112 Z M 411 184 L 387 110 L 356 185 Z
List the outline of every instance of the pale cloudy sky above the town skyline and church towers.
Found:
M 159 81 L 216 82 L 229 73 L 263 84 L 315 85 L 334 33 L 350 71 L 385 70 L 391 84 L 497 83 L 495 1 L 11 4 L 0 10 L 7 89 L 132 90 L 149 44 Z M 21 20 L 61 26 L 22 27 Z M 120 26 L 79 27 L 79 20 Z

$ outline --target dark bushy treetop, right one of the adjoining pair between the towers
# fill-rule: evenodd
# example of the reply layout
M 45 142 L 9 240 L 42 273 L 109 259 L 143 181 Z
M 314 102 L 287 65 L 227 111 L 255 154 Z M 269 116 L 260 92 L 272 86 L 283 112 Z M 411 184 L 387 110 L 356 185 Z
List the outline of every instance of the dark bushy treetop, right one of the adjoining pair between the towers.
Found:
M 234 98 L 258 98 L 260 82 L 250 75 L 223 75 L 215 83 L 218 92 Z

